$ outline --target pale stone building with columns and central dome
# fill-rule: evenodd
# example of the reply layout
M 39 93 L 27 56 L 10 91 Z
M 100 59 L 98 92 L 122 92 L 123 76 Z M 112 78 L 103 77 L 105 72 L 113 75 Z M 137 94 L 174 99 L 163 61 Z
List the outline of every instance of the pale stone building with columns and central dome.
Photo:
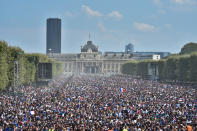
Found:
M 49 53 L 48 56 L 64 64 L 64 74 L 119 74 L 122 64 L 133 60 L 132 54 L 124 52 L 102 54 L 92 41 L 87 41 L 79 54 Z

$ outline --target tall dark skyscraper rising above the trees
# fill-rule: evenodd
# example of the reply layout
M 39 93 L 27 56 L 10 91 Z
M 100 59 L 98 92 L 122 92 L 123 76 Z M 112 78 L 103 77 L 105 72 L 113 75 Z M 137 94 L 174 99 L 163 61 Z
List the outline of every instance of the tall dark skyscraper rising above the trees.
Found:
M 47 19 L 46 53 L 61 53 L 61 19 Z

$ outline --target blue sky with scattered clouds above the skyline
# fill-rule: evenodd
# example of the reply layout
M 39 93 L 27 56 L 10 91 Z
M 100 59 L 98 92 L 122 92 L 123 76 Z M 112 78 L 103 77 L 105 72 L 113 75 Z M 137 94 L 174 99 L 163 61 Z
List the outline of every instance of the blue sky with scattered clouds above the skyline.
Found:
M 197 0 L 0 0 L 0 40 L 25 52 L 46 51 L 46 19 L 62 19 L 62 52 L 89 39 L 104 51 L 177 53 L 197 42 Z

